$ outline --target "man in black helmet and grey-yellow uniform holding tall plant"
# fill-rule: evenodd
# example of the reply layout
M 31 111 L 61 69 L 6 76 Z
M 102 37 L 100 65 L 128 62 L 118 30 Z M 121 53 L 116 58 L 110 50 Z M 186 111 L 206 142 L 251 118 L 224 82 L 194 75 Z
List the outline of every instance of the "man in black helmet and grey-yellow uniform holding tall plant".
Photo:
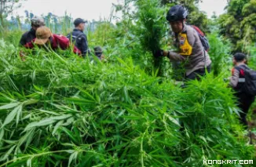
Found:
M 174 32 L 174 45 L 177 52 L 158 50 L 155 56 L 166 56 L 172 62 L 185 62 L 185 79 L 199 79 L 199 76 L 210 72 L 210 56 L 204 49 L 198 32 L 185 24 L 188 11 L 181 5 L 174 5 L 166 15 L 172 31 Z M 177 63 L 176 63 L 177 64 Z

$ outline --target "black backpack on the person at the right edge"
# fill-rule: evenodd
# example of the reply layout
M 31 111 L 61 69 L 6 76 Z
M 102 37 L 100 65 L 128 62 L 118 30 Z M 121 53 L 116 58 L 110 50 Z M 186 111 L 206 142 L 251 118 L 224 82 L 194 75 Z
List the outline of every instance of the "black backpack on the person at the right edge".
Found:
M 241 68 L 245 79 L 241 91 L 249 96 L 256 96 L 256 71 L 251 70 L 249 67 Z

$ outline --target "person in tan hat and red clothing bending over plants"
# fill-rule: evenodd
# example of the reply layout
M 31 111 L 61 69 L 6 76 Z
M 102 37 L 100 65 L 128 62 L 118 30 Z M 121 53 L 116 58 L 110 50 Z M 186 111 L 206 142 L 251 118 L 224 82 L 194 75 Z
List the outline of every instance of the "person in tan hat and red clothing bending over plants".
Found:
M 67 37 L 58 34 L 52 34 L 49 27 L 38 27 L 35 33 L 36 38 L 31 42 L 28 42 L 24 45 L 27 49 L 33 49 L 35 45 L 38 45 L 39 48 L 44 49 L 68 49 L 70 42 Z M 73 52 L 80 55 L 81 52 L 74 46 Z

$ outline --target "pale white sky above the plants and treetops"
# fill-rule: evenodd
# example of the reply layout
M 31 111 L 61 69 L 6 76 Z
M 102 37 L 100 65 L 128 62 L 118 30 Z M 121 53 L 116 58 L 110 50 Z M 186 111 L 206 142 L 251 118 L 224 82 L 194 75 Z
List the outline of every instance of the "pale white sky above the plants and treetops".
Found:
M 67 12 L 73 18 L 81 17 L 85 20 L 99 20 L 110 16 L 112 3 L 123 4 L 123 0 L 27 0 L 22 2 L 20 9 L 13 14 L 25 16 L 24 10 L 34 13 L 35 16 L 53 13 L 57 16 L 64 16 Z M 224 13 L 227 0 L 203 0 L 199 8 L 210 17 L 214 12 L 217 15 Z

